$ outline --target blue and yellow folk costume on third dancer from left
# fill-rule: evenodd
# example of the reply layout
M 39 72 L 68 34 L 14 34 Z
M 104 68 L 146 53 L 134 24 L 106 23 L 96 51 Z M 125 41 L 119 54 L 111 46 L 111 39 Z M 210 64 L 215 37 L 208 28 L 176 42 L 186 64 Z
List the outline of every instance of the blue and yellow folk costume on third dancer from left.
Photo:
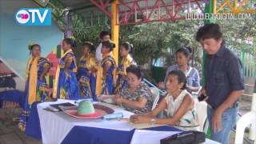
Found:
M 96 74 L 90 69 L 96 66 L 96 58 L 94 54 L 89 54 L 87 57 L 82 56 L 78 65 L 78 81 L 83 98 L 93 98 L 96 88 Z

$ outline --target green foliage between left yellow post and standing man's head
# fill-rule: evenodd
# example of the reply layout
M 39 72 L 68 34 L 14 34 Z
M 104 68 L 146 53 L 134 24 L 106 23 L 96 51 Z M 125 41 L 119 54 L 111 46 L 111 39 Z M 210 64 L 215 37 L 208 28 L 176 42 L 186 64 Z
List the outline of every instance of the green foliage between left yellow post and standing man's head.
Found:
M 129 41 L 134 44 L 134 58 L 139 64 L 162 56 L 169 59 L 170 50 L 174 52 L 183 46 L 196 48 L 195 54 L 199 57 L 202 50 L 198 42 L 194 41 L 194 34 L 200 25 L 202 22 L 184 20 L 121 26 L 121 42 Z M 196 59 L 201 62 L 200 58 Z

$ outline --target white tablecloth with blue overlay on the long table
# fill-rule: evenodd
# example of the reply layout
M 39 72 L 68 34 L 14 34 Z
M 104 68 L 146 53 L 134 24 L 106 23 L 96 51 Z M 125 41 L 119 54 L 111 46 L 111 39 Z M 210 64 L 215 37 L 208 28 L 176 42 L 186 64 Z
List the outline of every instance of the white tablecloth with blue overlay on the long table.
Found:
M 62 102 L 70 102 L 74 103 L 71 100 L 61 100 L 59 99 L 58 102 L 43 102 L 38 104 L 38 116 L 40 119 L 40 126 L 42 131 L 42 142 L 45 144 L 52 144 L 52 143 L 61 143 L 63 139 L 69 134 L 70 130 L 74 126 L 88 126 L 88 127 L 98 127 L 98 128 L 106 128 L 110 130 L 123 130 L 123 131 L 130 131 L 134 130 L 128 122 L 122 121 L 106 121 L 103 119 L 78 119 L 73 118 L 63 112 L 50 112 L 47 110 L 43 110 L 50 104 L 57 104 Z M 118 106 L 109 105 L 106 103 L 100 103 L 103 106 L 108 106 L 116 112 L 122 112 L 124 118 L 130 118 L 129 111 L 123 110 Z M 160 142 L 159 140 L 162 138 L 166 138 L 170 136 L 170 134 L 174 134 L 175 132 L 155 132 L 150 130 L 135 130 L 134 136 L 132 138 L 131 143 L 142 143 L 141 140 L 145 143 L 152 143 L 152 142 Z M 154 134 L 154 137 L 150 137 L 150 134 Z M 214 143 L 213 141 L 206 140 L 206 143 Z M 216 143 L 216 142 L 215 142 Z

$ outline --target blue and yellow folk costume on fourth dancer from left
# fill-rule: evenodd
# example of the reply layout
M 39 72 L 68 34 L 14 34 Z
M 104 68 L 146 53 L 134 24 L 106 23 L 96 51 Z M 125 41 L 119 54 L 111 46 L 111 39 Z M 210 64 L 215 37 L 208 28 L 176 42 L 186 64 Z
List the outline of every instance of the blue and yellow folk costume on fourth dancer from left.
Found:
M 114 86 L 116 82 L 116 63 L 112 53 L 103 54 L 101 65 L 98 66 L 97 81 L 96 81 L 96 95 L 100 94 L 114 94 Z M 106 64 L 110 64 L 106 76 L 103 76 L 103 70 Z

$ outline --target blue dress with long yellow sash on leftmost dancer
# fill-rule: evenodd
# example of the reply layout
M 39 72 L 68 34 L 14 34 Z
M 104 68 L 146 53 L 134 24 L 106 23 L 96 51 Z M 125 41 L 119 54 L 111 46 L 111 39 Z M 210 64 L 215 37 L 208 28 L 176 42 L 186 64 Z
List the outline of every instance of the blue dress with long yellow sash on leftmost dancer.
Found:
M 22 131 L 26 129 L 26 122 L 28 121 L 32 103 L 43 102 L 49 96 L 46 77 L 40 79 L 42 72 L 45 69 L 49 70 L 49 68 L 50 62 L 42 57 L 32 57 L 26 64 L 25 97 L 23 99 L 22 115 L 19 117 L 18 122 L 18 127 Z

